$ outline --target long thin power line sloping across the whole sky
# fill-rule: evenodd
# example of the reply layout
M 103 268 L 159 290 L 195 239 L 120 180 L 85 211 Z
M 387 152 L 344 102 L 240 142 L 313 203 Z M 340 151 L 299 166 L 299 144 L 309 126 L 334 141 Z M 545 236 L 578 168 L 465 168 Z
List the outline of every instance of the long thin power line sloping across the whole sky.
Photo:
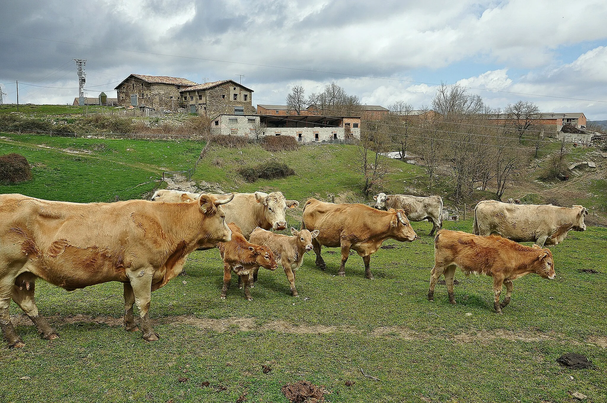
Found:
M 368 76 L 368 75 L 352 74 L 352 73 L 325 72 L 323 70 L 301 69 L 301 68 L 298 68 L 298 67 L 272 66 L 270 64 L 245 63 L 245 62 L 239 62 L 239 61 L 198 58 L 198 57 L 194 57 L 194 56 L 170 55 L 168 53 L 144 52 L 143 50 L 120 49 L 120 48 L 116 48 L 116 47 L 88 45 L 88 44 L 81 44 L 81 43 L 67 42 L 67 41 L 56 41 L 55 39 L 36 38 L 35 36 L 19 35 L 18 33 L 10 33 L 10 32 L 0 32 L 0 33 L 4 33 L 5 35 L 21 36 L 22 38 L 38 39 L 40 41 L 49 41 L 49 42 L 63 43 L 63 44 L 76 45 L 76 46 L 95 47 L 95 48 L 98 48 L 98 49 L 118 50 L 120 52 L 141 53 L 143 55 L 168 56 L 168 57 L 174 57 L 174 58 L 183 58 L 183 59 L 192 59 L 192 60 L 203 60 L 203 61 L 213 61 L 213 62 L 217 62 L 217 63 L 242 64 L 244 66 L 269 67 L 271 69 L 296 70 L 296 71 L 301 71 L 301 72 L 333 74 L 333 75 L 342 75 L 342 76 L 360 77 L 360 78 L 373 78 L 375 80 L 399 81 L 401 83 L 426 84 L 426 85 L 430 85 L 430 86 L 439 86 L 439 85 L 441 85 L 441 84 L 436 84 L 436 83 L 426 83 L 424 81 L 402 80 L 402 79 L 399 79 L 399 78 Z M 456 84 L 446 84 L 446 85 L 448 85 L 448 86 L 456 86 Z M 512 93 L 512 94 L 517 94 L 517 95 L 527 95 L 527 96 L 530 96 L 530 97 L 558 98 L 558 99 L 561 99 L 561 100 L 573 100 L 573 101 L 588 101 L 588 102 L 607 103 L 607 101 L 586 100 L 584 98 L 557 97 L 555 95 L 541 95 L 541 94 L 526 93 L 526 92 L 492 90 L 492 89 L 479 88 L 479 87 L 467 87 L 467 86 L 461 86 L 461 87 L 467 88 L 467 89 L 473 89 L 473 90 L 481 90 L 481 91 Z

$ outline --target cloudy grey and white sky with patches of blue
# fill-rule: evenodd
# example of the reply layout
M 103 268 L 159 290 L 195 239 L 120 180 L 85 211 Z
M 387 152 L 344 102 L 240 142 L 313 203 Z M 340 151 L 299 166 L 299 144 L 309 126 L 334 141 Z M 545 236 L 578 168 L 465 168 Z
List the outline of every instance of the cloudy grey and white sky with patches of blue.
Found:
M 444 82 L 495 108 L 528 100 L 607 119 L 605 0 L 0 0 L 0 10 L 5 103 L 15 80 L 20 103 L 72 103 L 81 58 L 89 97 L 115 96 L 130 73 L 242 74 L 254 104 L 334 81 L 364 104 L 421 108 Z

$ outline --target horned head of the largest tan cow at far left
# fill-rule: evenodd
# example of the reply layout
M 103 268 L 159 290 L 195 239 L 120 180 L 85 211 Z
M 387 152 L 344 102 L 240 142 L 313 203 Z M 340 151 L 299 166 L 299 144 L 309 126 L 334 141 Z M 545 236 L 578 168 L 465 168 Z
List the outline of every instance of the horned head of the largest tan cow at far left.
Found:
M 234 194 L 220 200 L 203 194 L 196 201 L 200 214 L 203 215 L 200 229 L 201 239 L 198 241 L 199 248 L 214 248 L 218 242 L 229 242 L 232 239 L 232 231 L 226 224 L 226 215 L 221 206 L 231 202 L 232 198 L 234 198 Z

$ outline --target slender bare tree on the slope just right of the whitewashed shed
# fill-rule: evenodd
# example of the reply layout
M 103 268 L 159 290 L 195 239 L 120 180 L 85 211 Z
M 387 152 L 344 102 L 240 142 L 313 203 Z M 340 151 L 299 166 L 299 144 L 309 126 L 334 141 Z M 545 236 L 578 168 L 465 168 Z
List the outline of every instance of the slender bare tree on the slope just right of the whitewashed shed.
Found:
M 361 140 L 358 142 L 358 168 L 363 179 L 363 194 L 368 197 L 374 186 L 384 180 L 390 172 L 388 159 L 380 155 L 389 147 L 390 141 L 385 130 L 379 124 L 362 122 Z

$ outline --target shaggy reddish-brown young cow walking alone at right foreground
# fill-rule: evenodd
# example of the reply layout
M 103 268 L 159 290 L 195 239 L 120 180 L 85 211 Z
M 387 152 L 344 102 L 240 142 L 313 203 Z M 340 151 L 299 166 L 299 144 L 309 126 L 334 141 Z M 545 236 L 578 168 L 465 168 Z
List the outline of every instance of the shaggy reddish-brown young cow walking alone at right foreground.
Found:
M 464 274 L 484 274 L 493 277 L 493 306 L 501 314 L 508 305 L 514 286 L 512 280 L 525 274 L 535 273 L 544 279 L 555 279 L 554 259 L 550 249 L 540 246 L 524 246 L 509 239 L 492 234 L 488 237 L 467 232 L 441 229 L 434 242 L 434 267 L 430 274 L 428 300 L 434 300 L 434 286 L 444 274 L 449 293 L 449 302 L 455 305 L 453 276 L 459 268 Z M 506 298 L 500 304 L 500 294 L 506 285 Z

